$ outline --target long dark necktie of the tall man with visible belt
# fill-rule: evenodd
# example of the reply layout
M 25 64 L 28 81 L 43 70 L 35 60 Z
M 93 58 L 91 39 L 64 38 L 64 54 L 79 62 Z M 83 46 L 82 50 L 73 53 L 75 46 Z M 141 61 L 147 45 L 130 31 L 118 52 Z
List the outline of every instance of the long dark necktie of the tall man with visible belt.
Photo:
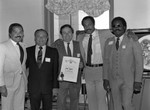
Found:
M 87 64 L 89 65 L 91 65 L 91 55 L 92 55 L 92 35 L 90 35 L 87 50 Z

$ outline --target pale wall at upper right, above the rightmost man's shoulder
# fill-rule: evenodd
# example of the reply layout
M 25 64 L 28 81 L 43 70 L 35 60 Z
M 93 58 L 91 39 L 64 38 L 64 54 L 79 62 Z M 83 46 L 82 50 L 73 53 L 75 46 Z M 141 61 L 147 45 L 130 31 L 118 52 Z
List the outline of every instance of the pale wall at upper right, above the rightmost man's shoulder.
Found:
M 150 28 L 150 0 L 114 0 L 114 16 L 126 19 L 128 28 Z

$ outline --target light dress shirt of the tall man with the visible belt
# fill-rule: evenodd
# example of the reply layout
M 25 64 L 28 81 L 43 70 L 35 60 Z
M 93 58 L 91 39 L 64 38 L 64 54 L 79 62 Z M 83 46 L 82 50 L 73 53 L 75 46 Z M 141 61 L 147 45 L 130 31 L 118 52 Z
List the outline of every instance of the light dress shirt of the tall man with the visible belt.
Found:
M 86 60 L 87 60 L 87 49 L 88 49 L 88 41 L 90 38 L 90 34 L 86 34 L 82 43 L 83 43 L 83 48 L 86 54 Z M 95 30 L 92 33 L 92 56 L 91 56 L 91 64 L 101 64 L 103 63 L 102 59 L 102 50 L 101 50 L 101 45 L 100 45 L 100 38 L 98 31 Z

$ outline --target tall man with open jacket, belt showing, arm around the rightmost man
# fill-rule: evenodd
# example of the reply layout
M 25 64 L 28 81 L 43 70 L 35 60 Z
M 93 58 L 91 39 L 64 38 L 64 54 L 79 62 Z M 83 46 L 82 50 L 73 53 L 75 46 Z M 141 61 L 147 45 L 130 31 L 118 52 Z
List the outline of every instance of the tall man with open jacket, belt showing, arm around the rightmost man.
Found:
M 110 30 L 95 29 L 95 20 L 91 16 L 86 16 L 82 20 L 84 32 L 77 36 L 77 40 L 82 44 L 82 55 L 85 62 L 83 74 L 85 74 L 89 110 L 108 110 L 106 102 L 106 91 L 103 88 L 102 67 L 103 48 Z M 91 62 L 88 63 L 88 42 L 92 37 Z

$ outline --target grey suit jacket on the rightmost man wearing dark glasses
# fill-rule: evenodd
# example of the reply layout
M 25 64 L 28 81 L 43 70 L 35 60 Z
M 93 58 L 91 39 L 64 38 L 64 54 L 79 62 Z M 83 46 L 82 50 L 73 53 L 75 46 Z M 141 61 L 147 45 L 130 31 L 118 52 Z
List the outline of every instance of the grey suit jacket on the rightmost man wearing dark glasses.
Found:
M 118 76 L 126 84 L 141 82 L 143 57 L 141 45 L 137 40 L 124 34 L 123 40 L 116 51 L 115 37 L 108 38 L 104 52 L 104 79 L 114 81 Z

